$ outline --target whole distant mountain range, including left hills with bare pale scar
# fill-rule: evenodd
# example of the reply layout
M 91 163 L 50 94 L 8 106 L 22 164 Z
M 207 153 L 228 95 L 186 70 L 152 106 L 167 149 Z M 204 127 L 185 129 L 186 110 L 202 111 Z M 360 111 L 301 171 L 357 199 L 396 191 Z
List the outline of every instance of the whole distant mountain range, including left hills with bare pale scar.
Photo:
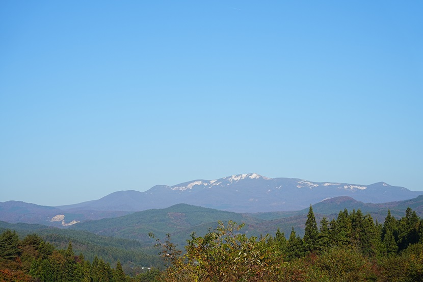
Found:
M 145 192 L 118 191 L 98 200 L 60 207 L 38 206 L 20 201 L 0 202 L 0 220 L 63 227 L 85 220 L 115 218 L 138 211 L 168 208 L 179 203 L 236 213 L 278 214 L 308 209 L 310 204 L 319 202 L 328 204 L 328 199 L 339 201 L 341 198 L 338 197 L 351 197 L 349 201 L 358 201 L 353 204 L 358 209 L 358 206 L 369 203 L 395 206 L 395 202 L 398 204 L 398 201 L 419 195 L 423 195 L 423 191 L 410 191 L 384 182 L 371 185 L 316 183 L 250 173 L 211 181 L 194 180 L 174 186 L 156 185 Z

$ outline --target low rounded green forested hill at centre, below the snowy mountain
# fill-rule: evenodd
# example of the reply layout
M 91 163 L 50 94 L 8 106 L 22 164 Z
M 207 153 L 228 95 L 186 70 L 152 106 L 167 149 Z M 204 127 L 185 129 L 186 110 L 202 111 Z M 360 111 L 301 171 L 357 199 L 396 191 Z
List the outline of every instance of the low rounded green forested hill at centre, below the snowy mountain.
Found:
M 166 209 L 147 210 L 118 218 L 85 221 L 71 226 L 70 229 L 87 230 L 103 236 L 135 239 L 145 246 L 154 243 L 149 238 L 149 233 L 154 233 L 161 238 L 169 233 L 177 243 L 184 244 L 192 232 L 198 235 L 205 234 L 209 228 L 216 227 L 219 220 L 245 222 L 251 225 L 262 221 L 233 212 L 176 204 Z

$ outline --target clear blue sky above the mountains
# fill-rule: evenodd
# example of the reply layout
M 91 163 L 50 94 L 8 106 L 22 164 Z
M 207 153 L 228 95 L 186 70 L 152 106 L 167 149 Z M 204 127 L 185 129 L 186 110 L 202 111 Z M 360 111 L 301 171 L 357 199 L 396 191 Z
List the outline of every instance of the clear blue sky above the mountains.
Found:
M 1 1 L 0 201 L 239 173 L 423 190 L 421 1 Z

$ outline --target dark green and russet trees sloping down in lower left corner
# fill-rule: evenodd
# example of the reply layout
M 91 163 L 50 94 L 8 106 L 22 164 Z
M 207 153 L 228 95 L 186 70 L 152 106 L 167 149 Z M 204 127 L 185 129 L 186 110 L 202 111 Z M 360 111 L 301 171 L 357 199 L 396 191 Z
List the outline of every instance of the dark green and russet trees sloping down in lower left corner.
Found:
M 36 234 L 23 240 L 15 231 L 0 235 L 0 281 L 125 282 L 152 281 L 158 270 L 127 276 L 120 261 L 114 267 L 98 257 L 92 262 L 76 255 L 72 243 L 57 249 Z

